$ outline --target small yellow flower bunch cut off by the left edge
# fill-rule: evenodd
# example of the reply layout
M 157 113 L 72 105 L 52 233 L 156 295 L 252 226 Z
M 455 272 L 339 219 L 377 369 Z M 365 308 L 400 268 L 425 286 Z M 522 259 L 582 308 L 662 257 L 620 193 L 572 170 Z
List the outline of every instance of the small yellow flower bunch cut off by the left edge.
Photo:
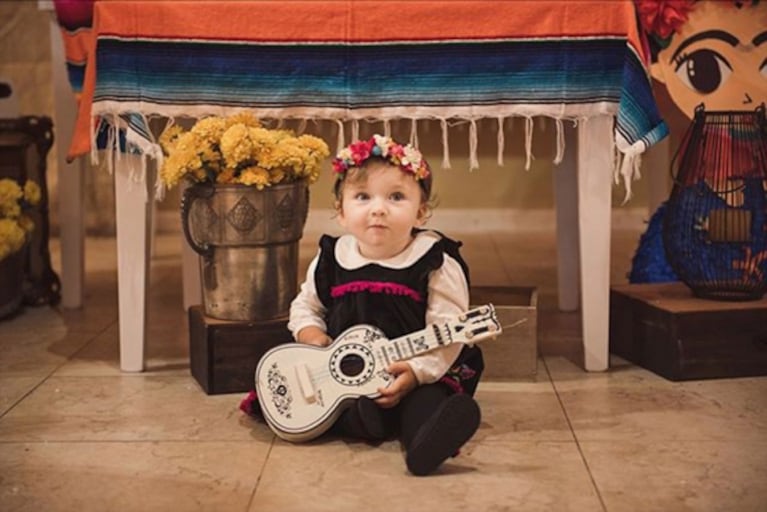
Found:
M 35 227 L 24 213 L 40 202 L 40 187 L 27 181 L 22 188 L 16 180 L 0 179 L 0 261 L 24 247 Z

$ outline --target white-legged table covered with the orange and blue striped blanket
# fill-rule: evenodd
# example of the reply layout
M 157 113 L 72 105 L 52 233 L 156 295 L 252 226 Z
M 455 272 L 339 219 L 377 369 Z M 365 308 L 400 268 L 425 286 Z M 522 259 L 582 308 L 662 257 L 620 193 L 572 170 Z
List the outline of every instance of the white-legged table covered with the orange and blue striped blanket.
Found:
M 149 120 L 243 109 L 351 121 L 352 136 L 371 118 L 438 119 L 445 130 L 463 119 L 474 131 L 481 118 L 548 116 L 561 141 L 572 135 L 562 121 L 577 122 L 577 152 L 558 155 L 555 178 L 560 307 L 577 307 L 577 282 L 588 283 L 584 364 L 608 367 L 611 182 L 622 176 L 630 193 L 637 156 L 667 134 L 632 2 L 99 1 L 93 13 L 70 156 L 95 148 L 96 119 L 113 149 L 126 130 L 134 153 L 109 157 L 123 370 L 144 364 L 147 159 L 159 156 Z

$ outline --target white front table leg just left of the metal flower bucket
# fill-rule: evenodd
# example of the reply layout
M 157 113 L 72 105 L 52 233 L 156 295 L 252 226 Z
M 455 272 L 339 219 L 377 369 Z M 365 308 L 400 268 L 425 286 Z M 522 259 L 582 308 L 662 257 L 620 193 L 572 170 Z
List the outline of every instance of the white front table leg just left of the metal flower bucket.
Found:
M 117 223 L 117 290 L 120 318 L 120 369 L 144 370 L 146 345 L 149 249 L 154 201 L 154 177 L 140 175 L 140 155 L 120 155 L 115 164 L 115 208 Z M 154 169 L 152 160 L 147 166 Z

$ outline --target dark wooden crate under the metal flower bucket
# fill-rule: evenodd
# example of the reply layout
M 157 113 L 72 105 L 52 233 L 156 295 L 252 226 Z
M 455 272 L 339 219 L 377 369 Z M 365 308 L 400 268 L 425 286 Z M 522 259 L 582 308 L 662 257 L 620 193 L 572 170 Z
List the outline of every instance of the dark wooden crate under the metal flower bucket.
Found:
M 209 395 L 253 389 L 256 365 L 270 348 L 293 341 L 287 318 L 234 322 L 189 308 L 189 356 L 192 376 Z

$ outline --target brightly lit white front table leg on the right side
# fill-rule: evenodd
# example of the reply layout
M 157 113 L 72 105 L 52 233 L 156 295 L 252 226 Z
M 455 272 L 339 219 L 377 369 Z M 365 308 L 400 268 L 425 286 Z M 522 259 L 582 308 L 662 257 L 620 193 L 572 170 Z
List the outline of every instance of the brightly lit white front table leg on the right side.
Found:
M 610 211 L 613 118 L 582 121 L 578 130 L 578 228 L 584 367 L 609 366 Z

